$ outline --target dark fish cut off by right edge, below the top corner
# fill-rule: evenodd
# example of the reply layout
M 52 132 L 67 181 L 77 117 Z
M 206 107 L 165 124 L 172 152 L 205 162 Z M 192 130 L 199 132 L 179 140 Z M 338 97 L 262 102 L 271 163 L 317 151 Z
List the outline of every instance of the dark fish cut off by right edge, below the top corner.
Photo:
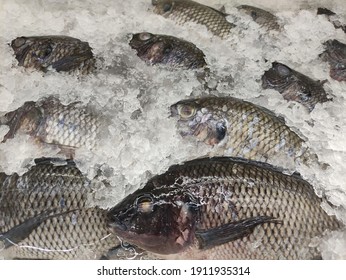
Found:
M 320 57 L 329 63 L 329 75 L 332 79 L 346 81 L 346 44 L 338 40 L 328 40 L 324 44 L 325 51 Z

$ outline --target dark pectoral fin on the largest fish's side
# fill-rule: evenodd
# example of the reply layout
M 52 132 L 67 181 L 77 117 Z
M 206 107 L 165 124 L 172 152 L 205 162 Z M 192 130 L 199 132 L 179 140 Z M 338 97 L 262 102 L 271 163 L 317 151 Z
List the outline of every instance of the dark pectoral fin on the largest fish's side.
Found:
M 199 242 L 199 248 L 206 249 L 243 238 L 251 234 L 256 226 L 264 223 L 281 223 L 281 221 L 273 217 L 259 216 L 208 230 L 197 230 L 196 237 Z

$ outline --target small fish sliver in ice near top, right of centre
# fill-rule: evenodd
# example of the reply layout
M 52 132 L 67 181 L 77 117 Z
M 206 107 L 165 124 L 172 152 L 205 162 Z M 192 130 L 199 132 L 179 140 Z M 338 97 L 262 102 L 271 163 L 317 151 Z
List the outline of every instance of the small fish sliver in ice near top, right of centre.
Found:
M 281 29 L 278 18 L 268 11 L 249 5 L 240 5 L 237 9 L 251 16 L 258 25 L 267 30 Z

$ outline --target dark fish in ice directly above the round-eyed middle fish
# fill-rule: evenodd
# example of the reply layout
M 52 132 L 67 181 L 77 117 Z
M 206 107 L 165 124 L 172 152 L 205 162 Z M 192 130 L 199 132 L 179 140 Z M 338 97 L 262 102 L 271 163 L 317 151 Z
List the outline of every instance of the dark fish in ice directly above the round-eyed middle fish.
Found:
M 195 69 L 206 66 L 204 53 L 185 40 L 147 32 L 134 34 L 130 46 L 148 64 Z

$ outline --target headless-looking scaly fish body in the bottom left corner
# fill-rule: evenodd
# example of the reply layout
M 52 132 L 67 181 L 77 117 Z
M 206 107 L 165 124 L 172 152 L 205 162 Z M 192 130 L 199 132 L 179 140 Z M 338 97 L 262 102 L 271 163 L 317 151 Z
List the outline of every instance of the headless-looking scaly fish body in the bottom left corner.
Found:
M 106 210 L 89 206 L 103 186 L 72 161 L 39 159 L 22 176 L 0 173 L 0 255 L 95 259 L 119 246 Z

